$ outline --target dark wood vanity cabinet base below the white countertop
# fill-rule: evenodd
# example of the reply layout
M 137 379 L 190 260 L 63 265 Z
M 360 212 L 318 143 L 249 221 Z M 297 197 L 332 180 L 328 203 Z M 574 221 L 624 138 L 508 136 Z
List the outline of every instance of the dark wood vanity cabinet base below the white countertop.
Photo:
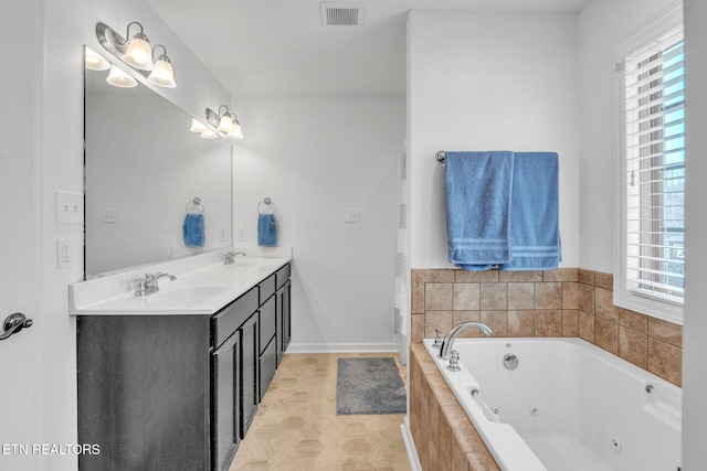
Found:
M 289 342 L 288 278 L 213 315 L 80 315 L 78 442 L 101 447 L 80 470 L 228 470 Z

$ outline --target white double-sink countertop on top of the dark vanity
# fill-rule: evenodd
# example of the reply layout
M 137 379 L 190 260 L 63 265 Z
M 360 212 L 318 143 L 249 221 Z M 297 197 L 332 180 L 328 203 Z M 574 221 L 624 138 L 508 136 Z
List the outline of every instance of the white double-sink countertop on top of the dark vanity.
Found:
M 239 248 L 236 247 L 236 250 Z M 225 253 L 224 250 L 223 253 Z M 200 260 L 171 261 L 140 270 L 82 281 L 70 286 L 72 315 L 214 314 L 292 260 L 282 257 L 236 257 L 223 265 L 223 254 Z M 135 296 L 133 278 L 149 272 L 175 275 L 159 279 L 159 291 Z

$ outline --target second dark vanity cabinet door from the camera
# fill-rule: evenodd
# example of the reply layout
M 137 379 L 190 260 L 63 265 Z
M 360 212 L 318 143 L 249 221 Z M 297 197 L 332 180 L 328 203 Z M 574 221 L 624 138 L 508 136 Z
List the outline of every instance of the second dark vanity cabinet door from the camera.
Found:
M 245 437 L 258 405 L 258 318 L 255 312 L 241 327 L 241 438 Z

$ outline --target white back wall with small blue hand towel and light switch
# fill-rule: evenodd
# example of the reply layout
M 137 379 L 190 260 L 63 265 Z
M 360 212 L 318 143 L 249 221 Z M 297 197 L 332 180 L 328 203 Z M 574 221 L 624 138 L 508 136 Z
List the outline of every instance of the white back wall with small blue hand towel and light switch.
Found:
M 256 207 L 277 207 L 293 247 L 292 351 L 393 349 L 398 152 L 403 97 L 235 97 L 235 235 L 256 244 Z M 361 222 L 345 223 L 359 208 Z

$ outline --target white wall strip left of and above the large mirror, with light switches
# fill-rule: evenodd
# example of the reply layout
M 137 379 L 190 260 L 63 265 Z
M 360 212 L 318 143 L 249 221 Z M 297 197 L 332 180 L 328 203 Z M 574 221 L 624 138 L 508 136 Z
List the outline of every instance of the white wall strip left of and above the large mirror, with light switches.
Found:
M 75 0 L 40 2 L 44 9 L 44 28 L 28 24 L 28 34 L 43 36 L 44 61 L 41 100 L 41 156 L 39 159 L 40 214 L 34 215 L 41 231 L 41 281 L 35 287 L 40 298 L 35 323 L 39 335 L 38 428 L 41 443 L 75 443 L 76 438 L 76 361 L 75 321 L 68 317 L 71 282 L 83 279 L 81 240 L 83 226 L 57 225 L 54 214 L 54 192 L 83 192 L 83 69 L 82 45 L 97 51 L 95 24 L 104 21 L 124 30 L 133 20 L 141 21 L 152 42 L 167 45 L 176 69 L 178 88 L 167 90 L 169 98 L 192 114 L 202 114 L 205 106 L 228 104 L 229 94 L 215 82 L 201 63 L 141 0 Z M 13 3 L 2 3 L 0 14 L 12 14 Z M 124 34 L 124 32 L 123 32 Z M 30 121 L 31 122 L 31 121 Z M 31 142 L 27 143 L 31 152 Z M 56 268 L 56 238 L 75 242 L 74 264 L 70 269 Z M 75 470 L 72 456 L 49 456 L 41 460 L 41 470 Z

